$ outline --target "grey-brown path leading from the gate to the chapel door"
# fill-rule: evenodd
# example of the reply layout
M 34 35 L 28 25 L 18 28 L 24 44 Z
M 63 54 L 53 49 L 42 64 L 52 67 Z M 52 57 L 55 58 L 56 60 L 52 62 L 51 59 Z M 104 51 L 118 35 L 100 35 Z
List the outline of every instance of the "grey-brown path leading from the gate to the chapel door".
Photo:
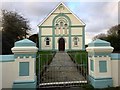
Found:
M 43 83 L 69 82 L 85 80 L 78 72 L 76 65 L 65 52 L 58 52 L 43 74 Z

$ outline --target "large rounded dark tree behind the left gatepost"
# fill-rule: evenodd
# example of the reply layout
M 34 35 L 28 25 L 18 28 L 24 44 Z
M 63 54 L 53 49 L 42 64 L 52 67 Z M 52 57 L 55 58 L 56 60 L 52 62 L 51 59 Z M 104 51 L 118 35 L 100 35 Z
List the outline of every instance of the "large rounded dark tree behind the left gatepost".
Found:
M 2 54 L 11 54 L 14 42 L 29 34 L 28 23 L 17 12 L 2 10 Z

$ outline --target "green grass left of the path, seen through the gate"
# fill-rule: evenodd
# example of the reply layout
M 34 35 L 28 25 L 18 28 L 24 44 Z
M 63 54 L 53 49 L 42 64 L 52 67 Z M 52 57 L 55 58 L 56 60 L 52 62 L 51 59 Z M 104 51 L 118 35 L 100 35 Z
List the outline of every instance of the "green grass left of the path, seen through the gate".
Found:
M 51 63 L 54 55 L 55 52 L 38 52 L 36 57 L 36 74 L 38 84 L 42 82 L 41 76 L 43 76 L 43 73 L 46 71 L 47 67 Z

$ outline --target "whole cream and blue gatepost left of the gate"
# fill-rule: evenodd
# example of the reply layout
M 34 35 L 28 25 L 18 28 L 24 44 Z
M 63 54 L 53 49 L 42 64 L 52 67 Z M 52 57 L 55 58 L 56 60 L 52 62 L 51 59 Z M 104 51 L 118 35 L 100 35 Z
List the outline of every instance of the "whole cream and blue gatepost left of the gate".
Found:
M 15 42 L 12 48 L 15 58 L 16 77 L 13 89 L 36 89 L 36 44 L 28 39 Z

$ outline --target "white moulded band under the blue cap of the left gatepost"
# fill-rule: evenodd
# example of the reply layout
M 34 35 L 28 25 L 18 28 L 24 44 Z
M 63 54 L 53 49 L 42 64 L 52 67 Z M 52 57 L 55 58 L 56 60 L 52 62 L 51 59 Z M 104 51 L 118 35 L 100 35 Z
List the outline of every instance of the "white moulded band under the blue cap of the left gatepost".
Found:
M 12 49 L 13 53 L 36 53 L 38 51 L 38 48 L 35 46 L 31 47 L 13 47 Z

